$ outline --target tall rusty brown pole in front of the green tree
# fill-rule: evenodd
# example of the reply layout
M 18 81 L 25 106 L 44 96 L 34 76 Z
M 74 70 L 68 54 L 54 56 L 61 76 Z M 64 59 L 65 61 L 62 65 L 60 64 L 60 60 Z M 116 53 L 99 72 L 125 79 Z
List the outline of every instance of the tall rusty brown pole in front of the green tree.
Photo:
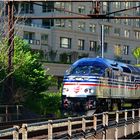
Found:
M 14 56 L 14 5 L 13 1 L 8 1 L 8 74 L 10 75 L 6 81 L 6 100 L 12 102 L 13 97 L 13 78 L 10 74 L 13 70 L 13 56 Z

